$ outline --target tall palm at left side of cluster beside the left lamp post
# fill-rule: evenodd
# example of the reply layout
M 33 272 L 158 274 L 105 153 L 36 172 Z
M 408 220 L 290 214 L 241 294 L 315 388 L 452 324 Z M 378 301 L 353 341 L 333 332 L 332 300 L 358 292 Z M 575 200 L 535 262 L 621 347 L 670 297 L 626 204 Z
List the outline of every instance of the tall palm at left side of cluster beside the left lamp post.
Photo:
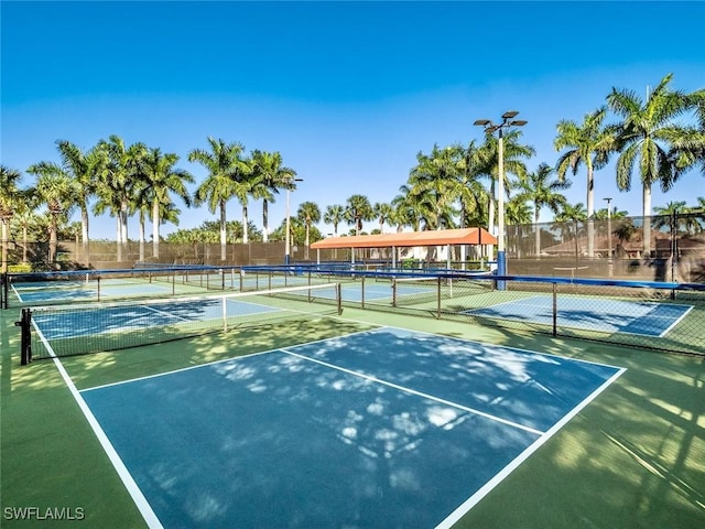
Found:
M 210 213 L 220 210 L 220 260 L 226 259 L 226 203 L 234 196 L 241 195 L 238 175 L 246 169 L 246 162 L 240 159 L 243 147 L 241 143 L 226 143 L 224 140 L 208 138 L 210 152 L 194 149 L 188 153 L 189 162 L 198 162 L 206 168 L 208 176 L 196 190 L 195 205 L 208 203 Z

